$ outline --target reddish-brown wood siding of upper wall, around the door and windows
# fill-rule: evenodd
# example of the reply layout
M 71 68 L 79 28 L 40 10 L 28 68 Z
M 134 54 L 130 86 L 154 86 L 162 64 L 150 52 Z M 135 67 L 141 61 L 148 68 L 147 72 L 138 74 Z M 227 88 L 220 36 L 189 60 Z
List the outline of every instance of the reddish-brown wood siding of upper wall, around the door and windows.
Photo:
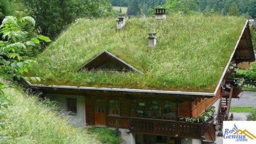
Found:
M 184 101 L 179 102 L 179 117 L 198 117 L 207 107 L 210 107 L 217 99 L 220 97 L 220 91 L 214 98 L 196 98 L 195 101 Z M 128 119 L 123 119 L 121 117 L 131 117 L 131 101 L 133 99 L 145 99 L 145 100 L 171 100 L 176 101 L 177 99 L 158 97 L 152 98 L 150 96 L 140 96 L 140 95 L 127 95 L 127 94 L 93 94 L 87 95 L 86 98 L 86 122 L 88 125 L 95 125 L 95 99 L 105 99 L 106 100 L 106 125 L 110 127 L 116 127 L 116 122 L 118 122 L 119 128 L 127 128 L 129 124 Z M 120 101 L 120 115 L 114 115 L 115 117 L 109 117 L 109 101 L 112 99 L 118 99 Z M 180 101 L 181 99 L 179 99 Z

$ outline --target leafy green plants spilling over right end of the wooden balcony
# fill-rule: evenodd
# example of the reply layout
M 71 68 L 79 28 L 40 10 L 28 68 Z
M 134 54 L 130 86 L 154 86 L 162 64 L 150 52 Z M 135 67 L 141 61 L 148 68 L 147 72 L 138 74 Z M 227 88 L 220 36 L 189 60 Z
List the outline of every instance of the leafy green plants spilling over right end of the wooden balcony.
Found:
M 194 117 L 182 117 L 180 118 L 180 120 L 184 121 L 184 122 L 207 122 L 207 120 L 211 120 L 213 119 L 213 117 L 215 117 L 215 107 L 211 106 L 207 109 L 205 109 L 205 112 L 200 115 L 200 117 L 198 118 L 194 118 Z

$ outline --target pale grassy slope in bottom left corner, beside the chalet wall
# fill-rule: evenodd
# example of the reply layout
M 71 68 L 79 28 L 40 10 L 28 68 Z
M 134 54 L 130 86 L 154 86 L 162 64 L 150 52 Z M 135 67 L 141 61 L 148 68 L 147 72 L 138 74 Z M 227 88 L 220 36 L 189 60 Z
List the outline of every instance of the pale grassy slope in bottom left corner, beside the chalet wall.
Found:
M 120 143 L 121 138 L 114 131 L 75 128 L 65 117 L 58 117 L 53 107 L 39 102 L 37 96 L 28 96 L 18 86 L 1 78 L 0 81 L 12 87 L 4 90 L 11 106 L 0 119 L 5 124 L 0 135 L 10 138 L 1 143 Z

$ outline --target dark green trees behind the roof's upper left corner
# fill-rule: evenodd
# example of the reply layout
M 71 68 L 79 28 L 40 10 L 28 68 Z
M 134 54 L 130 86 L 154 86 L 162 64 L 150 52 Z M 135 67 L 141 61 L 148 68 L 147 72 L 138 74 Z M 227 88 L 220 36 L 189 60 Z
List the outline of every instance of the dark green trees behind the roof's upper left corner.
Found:
M 37 30 L 54 39 L 75 19 L 112 14 L 108 0 L 25 0 L 32 11 Z

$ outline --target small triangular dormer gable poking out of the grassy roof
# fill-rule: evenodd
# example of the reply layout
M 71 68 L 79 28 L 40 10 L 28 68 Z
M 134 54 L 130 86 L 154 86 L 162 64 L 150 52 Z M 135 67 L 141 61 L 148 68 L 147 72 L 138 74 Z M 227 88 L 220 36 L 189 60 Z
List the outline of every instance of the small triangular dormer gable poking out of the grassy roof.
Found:
M 117 56 L 111 52 L 108 52 L 108 50 L 104 50 L 104 52 L 98 54 L 98 56 L 90 60 L 88 63 L 85 63 L 78 70 L 81 71 L 83 69 L 87 69 L 88 71 L 101 69 L 106 71 L 133 71 L 142 73 L 132 65 L 129 65 L 120 58 L 117 58 Z

